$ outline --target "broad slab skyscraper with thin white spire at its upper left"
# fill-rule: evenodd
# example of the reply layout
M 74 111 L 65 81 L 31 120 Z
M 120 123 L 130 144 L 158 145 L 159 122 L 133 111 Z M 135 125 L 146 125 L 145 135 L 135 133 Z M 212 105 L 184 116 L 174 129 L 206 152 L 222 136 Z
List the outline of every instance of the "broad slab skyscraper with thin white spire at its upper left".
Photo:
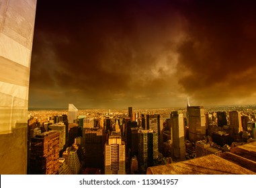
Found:
M 196 142 L 206 136 L 206 117 L 204 107 L 187 105 L 187 124 L 189 126 L 189 140 Z

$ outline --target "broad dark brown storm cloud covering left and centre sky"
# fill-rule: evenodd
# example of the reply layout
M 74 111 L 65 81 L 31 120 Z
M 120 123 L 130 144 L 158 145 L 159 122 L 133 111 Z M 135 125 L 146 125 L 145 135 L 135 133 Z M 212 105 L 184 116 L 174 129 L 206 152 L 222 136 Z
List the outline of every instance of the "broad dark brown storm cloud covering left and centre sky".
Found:
M 38 1 L 30 93 L 47 83 L 60 99 L 95 107 L 140 105 L 163 93 L 172 62 L 159 59 L 181 28 L 167 2 Z

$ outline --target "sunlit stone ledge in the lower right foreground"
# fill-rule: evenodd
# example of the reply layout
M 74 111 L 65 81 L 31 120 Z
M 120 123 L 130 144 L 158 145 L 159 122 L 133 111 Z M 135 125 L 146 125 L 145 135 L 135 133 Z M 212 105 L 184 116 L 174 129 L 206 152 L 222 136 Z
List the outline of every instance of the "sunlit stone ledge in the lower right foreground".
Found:
M 148 167 L 151 175 L 256 175 L 256 142 L 232 148 L 221 156 L 210 154 L 191 160 Z

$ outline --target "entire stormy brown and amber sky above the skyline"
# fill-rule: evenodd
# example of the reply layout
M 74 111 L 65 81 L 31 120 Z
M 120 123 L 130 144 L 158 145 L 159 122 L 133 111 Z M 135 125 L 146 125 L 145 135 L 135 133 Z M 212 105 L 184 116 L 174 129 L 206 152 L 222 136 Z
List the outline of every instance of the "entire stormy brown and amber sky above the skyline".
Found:
M 38 0 L 29 107 L 255 104 L 255 1 Z

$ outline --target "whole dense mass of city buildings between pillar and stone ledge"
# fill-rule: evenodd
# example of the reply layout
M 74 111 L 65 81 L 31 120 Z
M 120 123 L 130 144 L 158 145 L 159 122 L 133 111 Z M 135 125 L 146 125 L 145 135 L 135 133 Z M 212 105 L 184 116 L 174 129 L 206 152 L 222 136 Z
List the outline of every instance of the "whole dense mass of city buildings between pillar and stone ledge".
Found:
M 29 174 L 146 174 L 148 167 L 214 154 L 255 141 L 255 122 L 240 111 L 202 106 L 157 113 L 67 114 L 28 121 Z

